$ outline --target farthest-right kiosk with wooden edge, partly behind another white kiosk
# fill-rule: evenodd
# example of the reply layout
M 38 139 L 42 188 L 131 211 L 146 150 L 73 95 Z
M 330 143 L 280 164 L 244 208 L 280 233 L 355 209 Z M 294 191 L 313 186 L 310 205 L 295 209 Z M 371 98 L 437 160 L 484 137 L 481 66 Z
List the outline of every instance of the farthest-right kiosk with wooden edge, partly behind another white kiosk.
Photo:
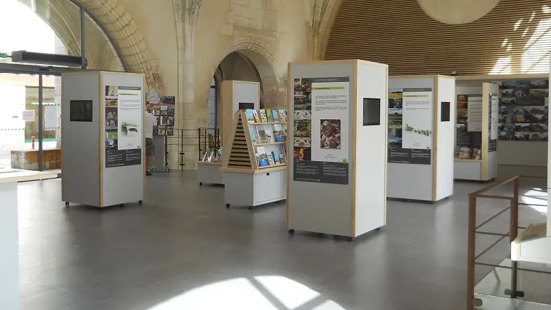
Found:
M 486 182 L 497 177 L 499 85 L 459 83 L 453 176 Z

